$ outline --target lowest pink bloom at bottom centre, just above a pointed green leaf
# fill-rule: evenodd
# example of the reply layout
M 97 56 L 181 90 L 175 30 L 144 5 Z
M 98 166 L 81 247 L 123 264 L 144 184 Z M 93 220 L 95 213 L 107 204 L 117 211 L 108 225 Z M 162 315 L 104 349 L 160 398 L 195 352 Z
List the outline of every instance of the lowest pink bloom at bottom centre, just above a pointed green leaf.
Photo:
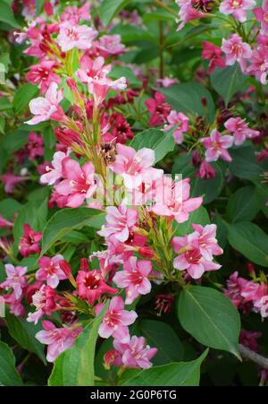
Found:
M 138 369 L 148 369 L 152 366 L 150 359 L 157 354 L 157 348 L 150 348 L 144 337 L 130 338 L 127 343 L 121 340 L 114 340 L 113 347 L 120 354 L 121 365 Z M 119 365 L 119 358 L 114 362 L 114 365 Z

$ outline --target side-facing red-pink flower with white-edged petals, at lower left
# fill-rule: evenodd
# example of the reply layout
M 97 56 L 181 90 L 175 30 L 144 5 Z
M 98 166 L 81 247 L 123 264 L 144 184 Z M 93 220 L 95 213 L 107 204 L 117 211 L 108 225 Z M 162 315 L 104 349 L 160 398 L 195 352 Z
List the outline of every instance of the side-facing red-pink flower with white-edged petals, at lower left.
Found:
M 37 310 L 34 313 L 29 313 L 27 317 L 28 322 L 38 323 L 38 320 L 43 317 L 44 314 L 51 315 L 55 308 L 55 291 L 50 286 L 42 285 L 39 290 L 32 296 L 32 304 Z

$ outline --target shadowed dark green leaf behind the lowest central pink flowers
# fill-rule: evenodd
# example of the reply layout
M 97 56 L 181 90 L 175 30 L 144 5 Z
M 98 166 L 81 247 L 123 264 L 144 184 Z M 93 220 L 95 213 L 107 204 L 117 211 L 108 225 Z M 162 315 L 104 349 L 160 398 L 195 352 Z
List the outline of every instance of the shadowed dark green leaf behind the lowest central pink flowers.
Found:
M 152 359 L 154 365 L 166 365 L 183 359 L 183 345 L 169 324 L 142 320 L 135 326 L 135 334 L 145 337 L 151 348 L 157 348 L 157 354 Z

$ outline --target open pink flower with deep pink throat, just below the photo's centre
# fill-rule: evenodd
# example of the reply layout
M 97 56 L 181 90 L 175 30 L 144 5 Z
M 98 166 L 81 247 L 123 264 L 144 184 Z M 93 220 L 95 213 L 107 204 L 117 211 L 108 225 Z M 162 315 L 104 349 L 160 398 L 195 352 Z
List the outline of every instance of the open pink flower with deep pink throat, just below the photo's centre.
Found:
M 126 305 L 130 305 L 139 295 L 147 295 L 151 291 L 148 279 L 152 271 L 152 262 L 137 261 L 137 257 L 130 257 L 123 264 L 123 271 L 117 272 L 113 282 L 119 288 L 126 288 Z

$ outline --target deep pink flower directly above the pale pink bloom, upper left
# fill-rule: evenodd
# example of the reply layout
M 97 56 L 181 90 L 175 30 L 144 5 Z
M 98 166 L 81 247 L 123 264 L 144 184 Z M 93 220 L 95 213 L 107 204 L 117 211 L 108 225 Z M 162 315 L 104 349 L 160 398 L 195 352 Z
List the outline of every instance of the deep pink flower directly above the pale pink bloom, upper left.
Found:
M 56 66 L 53 60 L 44 60 L 40 64 L 33 64 L 29 67 L 29 73 L 25 79 L 32 84 L 39 84 L 41 94 L 44 94 L 52 82 L 60 84 L 60 76 L 54 73 Z

